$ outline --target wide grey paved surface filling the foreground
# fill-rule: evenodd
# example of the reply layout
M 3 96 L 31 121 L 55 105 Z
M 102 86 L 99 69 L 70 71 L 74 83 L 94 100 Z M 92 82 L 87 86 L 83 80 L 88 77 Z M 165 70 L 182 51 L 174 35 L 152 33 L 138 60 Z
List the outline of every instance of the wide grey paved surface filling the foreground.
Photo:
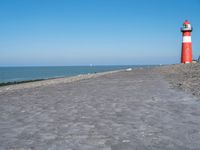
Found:
M 0 95 L 0 150 L 200 149 L 200 101 L 149 70 Z

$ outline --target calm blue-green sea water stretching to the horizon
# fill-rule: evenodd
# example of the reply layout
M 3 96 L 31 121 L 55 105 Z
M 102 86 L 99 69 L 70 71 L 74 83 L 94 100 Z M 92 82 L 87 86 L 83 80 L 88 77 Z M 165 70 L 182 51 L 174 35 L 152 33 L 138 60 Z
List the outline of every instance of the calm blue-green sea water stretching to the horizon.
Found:
M 141 66 L 0 67 L 0 83 L 70 77 L 130 67 L 136 68 Z

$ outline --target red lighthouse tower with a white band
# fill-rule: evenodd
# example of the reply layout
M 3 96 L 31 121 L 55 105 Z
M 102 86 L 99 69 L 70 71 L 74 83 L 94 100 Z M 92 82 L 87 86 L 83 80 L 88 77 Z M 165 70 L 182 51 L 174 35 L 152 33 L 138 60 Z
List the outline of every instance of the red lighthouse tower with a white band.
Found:
M 192 41 L 191 41 L 191 32 L 192 26 L 189 21 L 185 21 L 181 28 L 183 33 L 182 41 L 182 52 L 181 52 L 181 63 L 192 63 Z

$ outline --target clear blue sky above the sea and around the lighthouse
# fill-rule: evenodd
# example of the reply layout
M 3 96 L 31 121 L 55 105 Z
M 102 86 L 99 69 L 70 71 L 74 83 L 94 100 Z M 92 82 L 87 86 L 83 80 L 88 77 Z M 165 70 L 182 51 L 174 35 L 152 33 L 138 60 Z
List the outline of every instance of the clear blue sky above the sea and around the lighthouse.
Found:
M 200 0 L 1 0 L 0 66 L 179 63 L 188 19 L 200 55 Z

